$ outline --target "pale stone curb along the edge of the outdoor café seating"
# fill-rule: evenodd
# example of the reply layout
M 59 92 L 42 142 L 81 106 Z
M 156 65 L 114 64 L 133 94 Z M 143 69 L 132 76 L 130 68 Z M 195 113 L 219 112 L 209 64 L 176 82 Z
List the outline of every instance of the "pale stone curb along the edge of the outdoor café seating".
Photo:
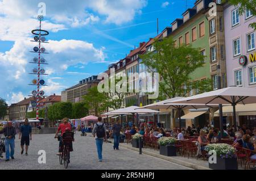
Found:
M 110 141 L 110 140 L 108 140 L 108 142 L 113 144 L 112 141 Z M 119 146 L 121 146 L 123 148 L 126 148 L 126 149 L 130 149 L 130 150 L 134 150 L 134 151 L 138 151 L 139 152 L 138 148 L 133 148 L 133 147 L 131 147 L 129 145 L 126 146 L 126 145 L 123 145 L 123 144 L 119 144 Z M 181 161 L 178 158 L 166 157 L 164 155 L 155 154 L 155 153 L 152 153 L 150 151 L 143 150 L 143 149 L 142 149 L 142 153 L 146 154 L 146 155 L 150 155 L 152 157 L 164 159 L 165 161 L 176 163 L 177 165 L 189 167 L 189 168 L 195 169 L 195 170 L 212 170 L 212 169 L 209 169 L 208 167 L 204 167 L 204 166 L 200 166 L 200 165 L 194 165 L 193 163 L 190 163 L 190 162 Z

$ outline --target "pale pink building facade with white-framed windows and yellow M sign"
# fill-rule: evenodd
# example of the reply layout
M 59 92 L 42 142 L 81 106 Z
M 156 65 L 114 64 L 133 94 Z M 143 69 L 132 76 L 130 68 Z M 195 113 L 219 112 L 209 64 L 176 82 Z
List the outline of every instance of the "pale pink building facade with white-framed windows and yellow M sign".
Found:
M 229 86 L 256 87 L 255 36 L 250 11 L 238 15 L 237 7 L 224 5 L 226 78 Z

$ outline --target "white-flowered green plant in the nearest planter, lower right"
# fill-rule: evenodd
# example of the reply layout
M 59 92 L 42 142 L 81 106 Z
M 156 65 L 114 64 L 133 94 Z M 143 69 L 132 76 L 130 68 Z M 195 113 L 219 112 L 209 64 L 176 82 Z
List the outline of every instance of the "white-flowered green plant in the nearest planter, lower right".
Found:
M 205 150 L 208 152 L 210 150 L 216 151 L 218 157 L 221 158 L 233 158 L 236 157 L 236 149 L 228 144 L 209 144 L 205 146 Z

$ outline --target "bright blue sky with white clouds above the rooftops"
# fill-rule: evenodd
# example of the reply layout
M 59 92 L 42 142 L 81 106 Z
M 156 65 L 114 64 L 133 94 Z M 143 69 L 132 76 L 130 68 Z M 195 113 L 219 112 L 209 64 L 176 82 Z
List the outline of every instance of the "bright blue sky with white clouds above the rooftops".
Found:
M 49 65 L 42 76 L 46 95 L 57 94 L 81 79 L 98 75 L 125 58 L 139 43 L 157 35 L 182 18 L 185 0 L 0 0 L 0 98 L 11 103 L 31 95 L 29 86 L 36 64 L 30 51 L 31 30 L 39 28 L 40 2 L 46 5 L 42 29 L 49 31 L 43 44 Z M 195 0 L 187 0 L 187 8 Z

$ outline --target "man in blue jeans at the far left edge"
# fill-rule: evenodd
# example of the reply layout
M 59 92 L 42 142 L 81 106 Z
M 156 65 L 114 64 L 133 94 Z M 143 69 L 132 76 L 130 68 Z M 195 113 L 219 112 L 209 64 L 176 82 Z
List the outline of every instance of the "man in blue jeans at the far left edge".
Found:
M 5 161 L 8 162 L 10 161 L 10 156 L 11 159 L 14 159 L 14 148 L 15 148 L 15 134 L 16 134 L 16 129 L 13 127 L 13 122 L 8 121 L 7 127 L 3 128 L 2 131 L 0 131 L 0 134 L 5 134 Z M 10 148 L 11 148 L 11 153 L 10 153 Z

